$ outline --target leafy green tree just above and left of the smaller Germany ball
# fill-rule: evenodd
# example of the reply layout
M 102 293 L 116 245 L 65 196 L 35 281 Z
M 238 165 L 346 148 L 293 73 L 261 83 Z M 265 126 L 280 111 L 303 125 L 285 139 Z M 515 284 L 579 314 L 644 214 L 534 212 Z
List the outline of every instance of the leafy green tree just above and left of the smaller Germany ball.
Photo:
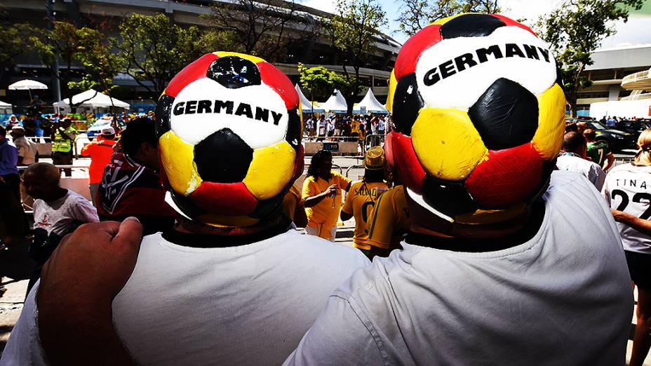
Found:
M 180 27 L 164 14 L 133 13 L 124 18 L 115 47 L 125 73 L 145 88 L 153 100 L 183 67 L 201 55 L 198 27 Z

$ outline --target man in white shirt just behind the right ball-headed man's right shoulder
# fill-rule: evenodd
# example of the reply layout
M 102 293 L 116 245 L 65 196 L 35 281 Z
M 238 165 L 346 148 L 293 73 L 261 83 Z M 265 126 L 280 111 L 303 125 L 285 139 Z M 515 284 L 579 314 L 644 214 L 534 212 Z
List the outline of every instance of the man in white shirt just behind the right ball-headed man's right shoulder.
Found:
M 583 175 L 600 191 L 606 179 L 606 173 L 597 163 L 586 160 L 587 151 L 586 138 L 581 133 L 566 133 L 563 136 L 563 151 L 556 159 L 556 166 L 560 170 Z

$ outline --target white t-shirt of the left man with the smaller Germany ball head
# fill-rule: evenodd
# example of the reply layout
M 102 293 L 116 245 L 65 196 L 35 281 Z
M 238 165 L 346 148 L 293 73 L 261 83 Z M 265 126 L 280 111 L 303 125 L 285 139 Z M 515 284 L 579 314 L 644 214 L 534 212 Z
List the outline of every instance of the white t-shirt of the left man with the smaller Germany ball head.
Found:
M 116 330 L 139 365 L 280 365 L 328 295 L 368 259 L 295 230 L 230 248 L 142 240 L 113 301 Z M 34 297 L 25 301 L 1 365 L 43 365 Z

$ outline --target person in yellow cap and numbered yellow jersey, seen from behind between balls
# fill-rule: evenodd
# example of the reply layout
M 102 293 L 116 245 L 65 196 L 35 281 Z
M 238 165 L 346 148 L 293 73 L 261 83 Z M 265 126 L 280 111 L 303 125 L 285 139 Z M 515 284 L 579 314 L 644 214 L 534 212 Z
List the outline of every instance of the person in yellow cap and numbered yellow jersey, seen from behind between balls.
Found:
M 342 221 L 355 217 L 353 246 L 367 256 L 370 255 L 371 249 L 366 242 L 369 213 L 373 210 L 377 198 L 389 189 L 387 182 L 384 182 L 383 165 L 384 150 L 382 147 L 376 146 L 366 151 L 363 162 L 364 179 L 351 185 L 341 213 Z

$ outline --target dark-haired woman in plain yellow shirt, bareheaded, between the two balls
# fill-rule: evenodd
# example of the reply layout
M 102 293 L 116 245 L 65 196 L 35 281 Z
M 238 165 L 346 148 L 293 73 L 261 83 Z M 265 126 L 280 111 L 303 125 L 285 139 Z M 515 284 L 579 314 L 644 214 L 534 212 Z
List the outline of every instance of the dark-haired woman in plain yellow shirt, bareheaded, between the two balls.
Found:
M 316 151 L 307 168 L 301 196 L 307 215 L 305 232 L 335 241 L 337 219 L 342 208 L 341 190 L 349 191 L 351 180 L 332 169 L 333 155 L 330 151 Z

